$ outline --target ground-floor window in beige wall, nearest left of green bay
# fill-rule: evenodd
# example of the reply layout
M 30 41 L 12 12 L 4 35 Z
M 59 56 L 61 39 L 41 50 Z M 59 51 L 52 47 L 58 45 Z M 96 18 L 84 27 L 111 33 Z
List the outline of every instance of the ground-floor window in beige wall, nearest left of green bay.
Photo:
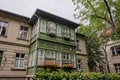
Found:
M 24 56 L 25 54 L 16 53 L 15 68 L 24 68 Z

